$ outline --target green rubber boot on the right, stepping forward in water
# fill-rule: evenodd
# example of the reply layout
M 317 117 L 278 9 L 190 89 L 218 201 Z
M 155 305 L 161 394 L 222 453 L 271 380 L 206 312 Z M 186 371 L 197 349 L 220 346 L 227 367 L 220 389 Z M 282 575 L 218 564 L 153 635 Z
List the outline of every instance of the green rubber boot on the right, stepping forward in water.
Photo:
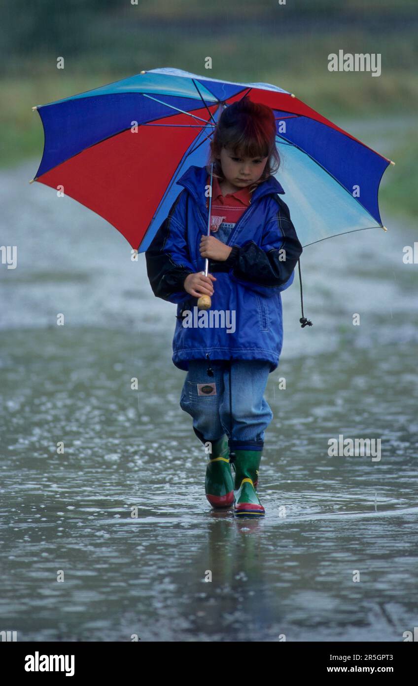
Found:
M 234 453 L 234 514 L 237 517 L 264 517 L 265 508 L 260 503 L 254 486 L 258 483 L 261 451 L 234 450 Z

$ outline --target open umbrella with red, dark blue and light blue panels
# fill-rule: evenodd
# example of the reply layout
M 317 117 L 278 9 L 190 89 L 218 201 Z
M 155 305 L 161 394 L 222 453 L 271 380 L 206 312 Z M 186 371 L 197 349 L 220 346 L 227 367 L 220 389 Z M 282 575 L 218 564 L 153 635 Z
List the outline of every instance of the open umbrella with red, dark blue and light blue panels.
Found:
M 244 95 L 275 115 L 276 176 L 302 247 L 352 231 L 386 230 L 378 188 L 391 160 L 283 88 L 171 67 L 32 108 L 45 133 L 32 181 L 63 187 L 119 230 L 135 252 L 145 252 L 180 192 L 177 179 L 190 165 L 206 164 L 223 108 Z M 299 281 L 302 299 L 300 263 Z M 303 299 L 300 321 L 302 327 L 312 323 L 304 318 Z

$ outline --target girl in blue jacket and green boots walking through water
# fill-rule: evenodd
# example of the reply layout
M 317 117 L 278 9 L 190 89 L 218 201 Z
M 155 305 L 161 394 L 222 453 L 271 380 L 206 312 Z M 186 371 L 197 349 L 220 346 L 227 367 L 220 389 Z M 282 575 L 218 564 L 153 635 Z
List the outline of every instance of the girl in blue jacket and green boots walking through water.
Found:
M 172 359 L 187 371 L 180 407 L 210 453 L 206 497 L 237 516 L 265 514 L 256 488 L 273 413 L 263 394 L 282 351 L 280 292 L 302 253 L 273 176 L 275 134 L 269 107 L 247 97 L 225 107 L 208 164 L 177 181 L 184 188 L 145 252 L 153 293 L 177 303 Z M 212 298 L 208 311 L 197 308 L 201 295 Z

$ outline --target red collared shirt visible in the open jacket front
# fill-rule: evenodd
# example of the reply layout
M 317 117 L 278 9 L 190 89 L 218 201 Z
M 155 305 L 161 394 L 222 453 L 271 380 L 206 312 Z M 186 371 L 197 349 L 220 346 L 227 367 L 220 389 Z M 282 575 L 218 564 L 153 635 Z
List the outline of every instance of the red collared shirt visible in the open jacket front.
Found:
M 206 181 L 210 185 L 210 176 Z M 230 233 L 234 228 L 236 222 L 245 212 L 251 202 L 251 192 L 248 186 L 234 191 L 234 193 L 227 193 L 224 197 L 222 195 L 221 187 L 216 176 L 212 176 L 212 206 L 210 208 L 210 233 L 217 237 L 216 232 L 219 226 L 223 224 L 223 229 Z M 209 207 L 209 198 L 206 200 L 206 206 Z M 229 229 L 229 230 L 228 230 Z M 225 233 L 221 232 L 221 233 Z

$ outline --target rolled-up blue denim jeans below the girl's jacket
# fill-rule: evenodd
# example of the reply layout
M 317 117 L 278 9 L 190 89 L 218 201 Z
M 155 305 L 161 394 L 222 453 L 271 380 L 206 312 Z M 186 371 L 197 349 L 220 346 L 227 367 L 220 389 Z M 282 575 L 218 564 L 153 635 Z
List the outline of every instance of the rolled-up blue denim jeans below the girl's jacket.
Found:
M 228 436 L 230 451 L 262 450 L 273 412 L 263 396 L 270 363 L 262 360 L 190 360 L 180 407 L 193 417 L 202 443 Z M 232 392 L 230 394 L 230 379 Z

